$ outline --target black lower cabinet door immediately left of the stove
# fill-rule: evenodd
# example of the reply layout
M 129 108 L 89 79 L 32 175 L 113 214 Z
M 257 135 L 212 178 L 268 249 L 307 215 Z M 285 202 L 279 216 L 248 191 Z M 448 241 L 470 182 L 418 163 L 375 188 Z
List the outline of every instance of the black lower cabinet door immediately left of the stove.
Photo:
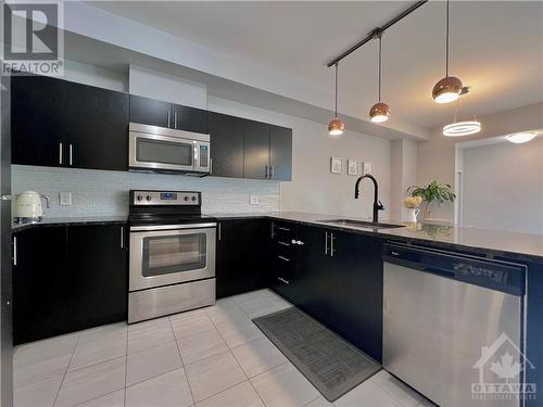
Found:
M 126 228 L 121 225 L 70 226 L 71 330 L 124 320 L 127 315 Z

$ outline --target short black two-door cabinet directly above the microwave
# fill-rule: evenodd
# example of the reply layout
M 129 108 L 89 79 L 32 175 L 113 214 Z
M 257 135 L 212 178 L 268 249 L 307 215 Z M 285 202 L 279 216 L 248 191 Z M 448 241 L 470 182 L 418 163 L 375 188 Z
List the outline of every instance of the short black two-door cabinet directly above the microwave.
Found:
M 177 130 L 209 133 L 207 111 L 130 96 L 130 122 Z

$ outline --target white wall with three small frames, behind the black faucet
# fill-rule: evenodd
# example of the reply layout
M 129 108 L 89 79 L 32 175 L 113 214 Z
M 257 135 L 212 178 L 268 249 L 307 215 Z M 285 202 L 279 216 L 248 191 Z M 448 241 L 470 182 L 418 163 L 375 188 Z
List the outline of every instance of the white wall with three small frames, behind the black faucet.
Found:
M 362 183 L 359 200 L 354 199 L 355 176 L 346 175 L 346 158 L 374 164 L 379 181 L 379 198 L 390 218 L 391 142 L 353 131 L 339 138 L 328 136 L 326 125 L 256 109 L 225 99 L 209 97 L 211 111 L 237 115 L 292 128 L 292 181 L 281 182 L 281 211 L 300 211 L 330 215 L 371 216 L 374 191 L 371 182 Z M 330 157 L 340 156 L 342 175 L 330 173 Z

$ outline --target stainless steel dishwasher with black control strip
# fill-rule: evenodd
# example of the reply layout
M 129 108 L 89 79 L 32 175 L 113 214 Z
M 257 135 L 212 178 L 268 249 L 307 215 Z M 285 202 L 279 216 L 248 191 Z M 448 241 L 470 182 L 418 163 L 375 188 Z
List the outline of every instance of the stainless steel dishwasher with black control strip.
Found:
M 521 406 L 484 384 L 523 383 L 526 267 L 402 243 L 383 260 L 383 367 L 442 407 Z

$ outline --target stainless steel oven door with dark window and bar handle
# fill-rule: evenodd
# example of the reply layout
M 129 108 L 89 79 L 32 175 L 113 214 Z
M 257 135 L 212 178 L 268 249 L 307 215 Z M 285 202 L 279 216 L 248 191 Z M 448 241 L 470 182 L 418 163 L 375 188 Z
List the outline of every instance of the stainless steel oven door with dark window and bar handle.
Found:
M 215 277 L 215 224 L 205 225 L 130 228 L 129 291 Z

